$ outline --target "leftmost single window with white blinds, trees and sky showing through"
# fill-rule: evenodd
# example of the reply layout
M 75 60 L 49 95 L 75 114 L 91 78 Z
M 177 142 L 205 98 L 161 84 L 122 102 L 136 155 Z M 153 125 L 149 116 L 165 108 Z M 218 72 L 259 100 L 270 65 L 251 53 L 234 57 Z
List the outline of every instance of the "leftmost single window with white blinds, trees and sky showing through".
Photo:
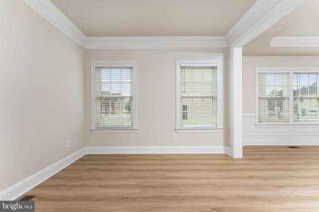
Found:
M 135 129 L 135 61 L 92 61 L 92 130 Z

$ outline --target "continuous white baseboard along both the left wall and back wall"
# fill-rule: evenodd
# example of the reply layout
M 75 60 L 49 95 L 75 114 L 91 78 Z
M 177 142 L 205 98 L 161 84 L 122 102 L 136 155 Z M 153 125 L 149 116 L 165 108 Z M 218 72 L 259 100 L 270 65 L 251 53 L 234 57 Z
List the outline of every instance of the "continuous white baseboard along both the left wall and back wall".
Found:
M 87 146 L 0 192 L 0 200 L 11 201 L 86 154 L 228 154 L 228 146 Z

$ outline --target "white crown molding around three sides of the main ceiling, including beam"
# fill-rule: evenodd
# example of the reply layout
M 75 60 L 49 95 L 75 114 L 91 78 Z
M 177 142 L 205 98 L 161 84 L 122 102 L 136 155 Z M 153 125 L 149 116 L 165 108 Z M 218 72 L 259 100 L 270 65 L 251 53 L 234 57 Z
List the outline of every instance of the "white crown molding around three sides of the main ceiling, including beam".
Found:
M 226 36 L 88 37 L 50 0 L 23 0 L 87 49 L 211 49 L 244 46 L 305 0 L 257 0 Z

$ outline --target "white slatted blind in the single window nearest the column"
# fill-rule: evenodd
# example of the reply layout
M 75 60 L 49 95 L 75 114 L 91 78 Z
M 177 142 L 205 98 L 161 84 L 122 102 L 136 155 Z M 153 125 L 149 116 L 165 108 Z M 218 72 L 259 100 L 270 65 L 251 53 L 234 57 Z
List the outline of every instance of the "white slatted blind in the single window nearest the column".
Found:
M 179 77 L 180 127 L 216 127 L 217 67 L 181 66 Z

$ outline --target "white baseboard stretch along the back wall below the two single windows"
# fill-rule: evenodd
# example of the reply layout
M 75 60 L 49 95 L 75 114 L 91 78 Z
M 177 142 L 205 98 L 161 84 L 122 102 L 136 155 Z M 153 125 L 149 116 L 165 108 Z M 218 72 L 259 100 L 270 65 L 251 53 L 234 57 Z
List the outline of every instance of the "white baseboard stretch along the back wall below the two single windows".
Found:
M 87 154 L 226 153 L 227 146 L 87 146 Z

